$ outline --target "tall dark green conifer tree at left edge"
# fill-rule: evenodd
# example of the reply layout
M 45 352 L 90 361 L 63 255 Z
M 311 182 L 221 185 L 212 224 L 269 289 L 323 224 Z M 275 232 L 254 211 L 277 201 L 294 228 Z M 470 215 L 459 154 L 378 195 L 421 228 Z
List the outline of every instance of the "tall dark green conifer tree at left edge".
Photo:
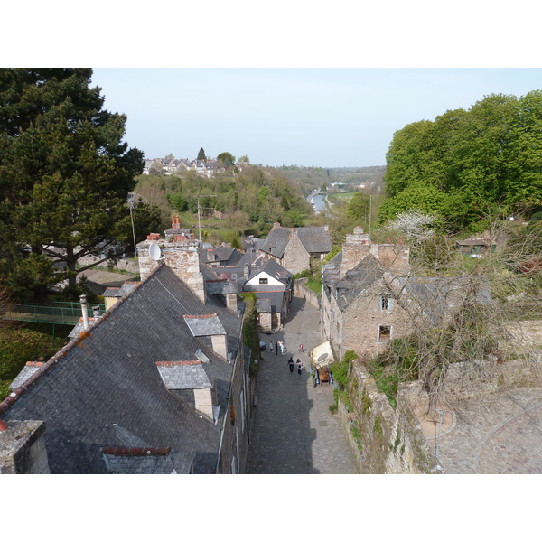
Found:
M 91 75 L 0 70 L 0 220 L 11 227 L 2 240 L 14 245 L 14 264 L 27 248 L 34 258 L 64 262 L 70 286 L 80 257 L 101 256 L 95 266 L 121 254 L 126 198 L 143 171 L 143 153 L 123 143 L 126 116 L 102 108 Z

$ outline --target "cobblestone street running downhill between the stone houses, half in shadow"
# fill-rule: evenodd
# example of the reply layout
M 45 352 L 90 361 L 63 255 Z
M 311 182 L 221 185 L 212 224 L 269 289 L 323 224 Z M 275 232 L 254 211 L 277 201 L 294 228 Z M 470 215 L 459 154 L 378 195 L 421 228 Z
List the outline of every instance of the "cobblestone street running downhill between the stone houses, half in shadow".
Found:
M 319 313 L 294 297 L 288 322 L 280 332 L 261 334 L 266 342 L 257 379 L 248 450 L 248 474 L 355 474 L 356 463 L 339 416 L 332 415 L 333 386 L 313 388 L 310 351 L 320 343 Z M 284 341 L 284 355 L 269 350 L 269 341 Z M 291 373 L 287 360 L 304 364 Z

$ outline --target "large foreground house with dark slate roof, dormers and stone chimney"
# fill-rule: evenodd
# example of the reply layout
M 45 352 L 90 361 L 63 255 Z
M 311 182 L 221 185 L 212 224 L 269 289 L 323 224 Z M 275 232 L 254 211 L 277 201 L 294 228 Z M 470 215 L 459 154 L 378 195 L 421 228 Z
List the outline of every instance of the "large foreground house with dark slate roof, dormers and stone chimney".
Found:
M 19 379 L 0 403 L 5 472 L 244 472 L 252 388 L 243 307 L 224 303 L 229 292 L 203 294 L 192 246 L 185 252 L 152 260 L 141 284 Z M 195 292 L 184 273 L 197 277 Z M 21 420 L 45 422 L 47 467 L 17 460 L 44 457 L 9 443 Z

